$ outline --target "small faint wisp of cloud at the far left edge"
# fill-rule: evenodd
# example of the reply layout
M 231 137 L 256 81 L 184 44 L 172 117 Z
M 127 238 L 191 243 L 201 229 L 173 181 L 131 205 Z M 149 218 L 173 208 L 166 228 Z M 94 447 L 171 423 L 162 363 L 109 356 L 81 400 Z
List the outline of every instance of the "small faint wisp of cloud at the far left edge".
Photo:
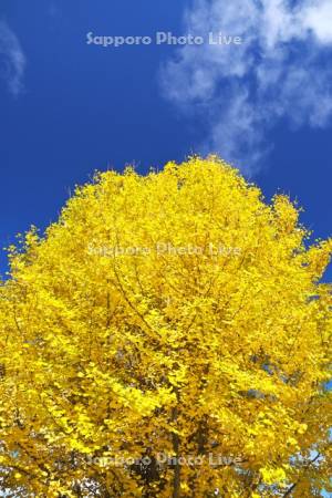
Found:
M 0 77 L 15 97 L 23 91 L 25 65 L 25 55 L 18 37 L 7 22 L 0 20 Z

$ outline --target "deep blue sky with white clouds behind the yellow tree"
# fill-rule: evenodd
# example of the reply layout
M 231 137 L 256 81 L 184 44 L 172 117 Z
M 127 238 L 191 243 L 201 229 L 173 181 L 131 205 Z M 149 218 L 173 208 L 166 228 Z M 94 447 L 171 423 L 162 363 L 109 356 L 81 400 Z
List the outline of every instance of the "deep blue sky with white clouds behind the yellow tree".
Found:
M 249 4 L 2 0 L 1 246 L 55 220 L 94 169 L 135 163 L 145 173 L 191 152 L 219 153 L 267 198 L 290 194 L 315 237 L 331 236 L 331 2 Z M 86 44 L 87 32 L 210 30 L 243 43 Z

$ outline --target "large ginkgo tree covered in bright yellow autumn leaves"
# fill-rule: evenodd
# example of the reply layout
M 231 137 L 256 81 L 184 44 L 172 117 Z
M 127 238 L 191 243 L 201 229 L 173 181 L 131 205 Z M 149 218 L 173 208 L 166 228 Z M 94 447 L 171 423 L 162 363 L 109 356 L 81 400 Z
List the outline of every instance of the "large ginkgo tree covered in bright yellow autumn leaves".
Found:
M 12 497 L 330 489 L 332 242 L 217 157 L 77 187 L 9 251 L 0 488 Z

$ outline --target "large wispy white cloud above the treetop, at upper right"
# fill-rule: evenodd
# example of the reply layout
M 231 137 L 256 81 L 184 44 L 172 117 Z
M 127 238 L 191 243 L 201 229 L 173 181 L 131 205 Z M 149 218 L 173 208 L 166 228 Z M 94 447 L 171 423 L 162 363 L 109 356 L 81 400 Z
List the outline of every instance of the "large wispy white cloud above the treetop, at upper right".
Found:
M 222 32 L 240 45 L 184 45 L 160 71 L 164 95 L 207 120 L 197 152 L 255 174 L 279 120 L 323 127 L 332 116 L 331 0 L 194 0 L 186 33 Z M 331 59 L 330 59 L 331 61 Z

